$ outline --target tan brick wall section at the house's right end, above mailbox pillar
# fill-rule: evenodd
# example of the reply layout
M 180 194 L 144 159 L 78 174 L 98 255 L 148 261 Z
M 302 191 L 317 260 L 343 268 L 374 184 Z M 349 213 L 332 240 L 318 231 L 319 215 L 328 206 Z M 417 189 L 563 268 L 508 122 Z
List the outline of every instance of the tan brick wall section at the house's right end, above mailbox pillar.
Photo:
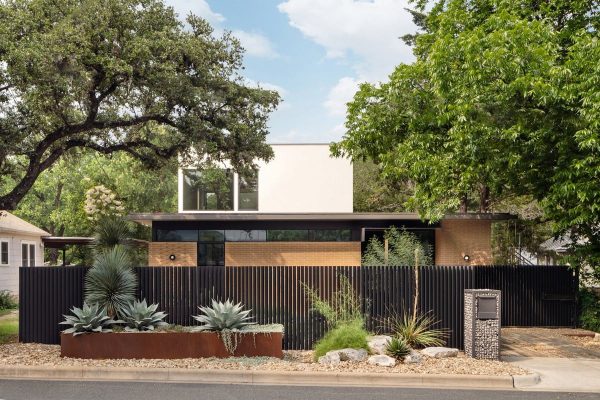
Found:
M 492 264 L 491 235 L 489 220 L 443 220 L 435 231 L 435 264 Z

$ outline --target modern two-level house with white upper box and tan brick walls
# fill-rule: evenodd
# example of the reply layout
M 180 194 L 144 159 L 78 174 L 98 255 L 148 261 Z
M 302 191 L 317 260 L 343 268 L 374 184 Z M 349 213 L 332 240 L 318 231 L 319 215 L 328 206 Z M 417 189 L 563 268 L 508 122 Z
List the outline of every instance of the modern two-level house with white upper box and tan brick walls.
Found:
M 373 235 L 414 232 L 438 265 L 491 264 L 491 224 L 506 214 L 353 213 L 353 167 L 327 144 L 275 144 L 256 173 L 179 170 L 177 213 L 130 218 L 152 227 L 152 266 L 360 265 Z

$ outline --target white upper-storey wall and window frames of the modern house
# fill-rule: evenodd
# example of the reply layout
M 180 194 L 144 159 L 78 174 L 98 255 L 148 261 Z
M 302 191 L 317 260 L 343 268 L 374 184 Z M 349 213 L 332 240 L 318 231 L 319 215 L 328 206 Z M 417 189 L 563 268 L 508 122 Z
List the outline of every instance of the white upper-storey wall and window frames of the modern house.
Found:
M 274 158 L 259 162 L 258 212 L 352 212 L 352 164 L 330 156 L 328 144 L 273 144 Z M 179 212 L 184 211 L 183 176 L 179 170 Z M 234 210 L 237 211 L 237 174 L 234 177 Z M 239 211 L 257 212 L 257 211 Z

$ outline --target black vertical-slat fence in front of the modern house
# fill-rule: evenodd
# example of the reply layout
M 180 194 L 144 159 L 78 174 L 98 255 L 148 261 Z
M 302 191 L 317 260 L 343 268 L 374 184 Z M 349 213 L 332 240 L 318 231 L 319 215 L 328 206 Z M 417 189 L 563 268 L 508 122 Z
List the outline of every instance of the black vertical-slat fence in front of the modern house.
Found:
M 87 267 L 23 267 L 19 339 L 59 343 L 58 323 L 83 303 Z M 252 309 L 257 322 L 285 325 L 284 348 L 309 349 L 326 332 L 302 283 L 329 298 L 347 276 L 363 299 L 367 327 L 387 332 L 387 317 L 413 307 L 411 267 L 250 266 L 137 267 L 138 297 L 159 303 L 167 321 L 194 325 L 192 315 L 211 299 L 231 299 Z M 427 266 L 419 269 L 419 310 L 431 312 L 448 345 L 463 347 L 464 289 L 502 291 L 503 326 L 574 326 L 578 277 L 560 266 Z

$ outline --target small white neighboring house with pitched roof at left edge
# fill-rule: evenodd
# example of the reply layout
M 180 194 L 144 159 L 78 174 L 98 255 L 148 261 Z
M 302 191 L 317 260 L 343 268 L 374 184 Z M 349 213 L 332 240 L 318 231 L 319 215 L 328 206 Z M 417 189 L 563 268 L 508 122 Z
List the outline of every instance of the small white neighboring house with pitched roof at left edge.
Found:
M 50 234 L 0 210 L 0 290 L 19 295 L 19 267 L 44 265 L 43 236 Z

